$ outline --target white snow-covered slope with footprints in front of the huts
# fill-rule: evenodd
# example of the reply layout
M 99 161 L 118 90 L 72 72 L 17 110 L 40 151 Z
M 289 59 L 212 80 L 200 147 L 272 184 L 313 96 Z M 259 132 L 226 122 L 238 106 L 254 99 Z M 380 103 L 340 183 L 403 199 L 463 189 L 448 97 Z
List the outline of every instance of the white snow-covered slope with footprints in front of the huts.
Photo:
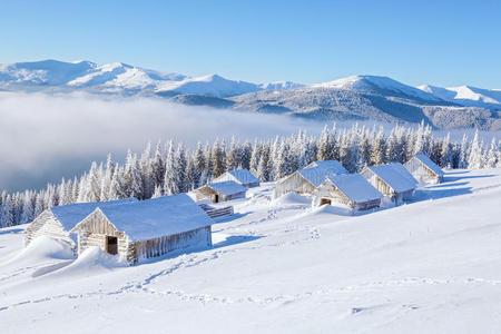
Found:
M 0 332 L 501 332 L 501 169 L 356 216 L 272 186 L 234 203 L 212 249 L 134 267 L 0 229 Z

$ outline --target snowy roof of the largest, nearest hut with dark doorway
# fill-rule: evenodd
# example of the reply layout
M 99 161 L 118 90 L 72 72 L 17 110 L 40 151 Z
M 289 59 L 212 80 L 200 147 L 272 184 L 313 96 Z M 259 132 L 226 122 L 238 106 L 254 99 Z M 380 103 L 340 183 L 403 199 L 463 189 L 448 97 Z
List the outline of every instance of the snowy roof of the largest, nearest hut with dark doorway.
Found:
M 115 227 L 132 240 L 179 234 L 213 225 L 213 219 L 186 194 L 99 207 Z

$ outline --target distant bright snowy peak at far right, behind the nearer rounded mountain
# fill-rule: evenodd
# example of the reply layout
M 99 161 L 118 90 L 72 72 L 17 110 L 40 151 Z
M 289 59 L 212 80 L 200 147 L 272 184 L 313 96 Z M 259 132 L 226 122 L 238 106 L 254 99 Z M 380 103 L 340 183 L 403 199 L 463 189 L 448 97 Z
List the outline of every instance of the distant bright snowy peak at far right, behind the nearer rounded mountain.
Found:
M 470 86 L 442 88 L 430 85 L 419 86 L 418 88 L 458 105 L 501 110 L 500 89 L 482 89 Z

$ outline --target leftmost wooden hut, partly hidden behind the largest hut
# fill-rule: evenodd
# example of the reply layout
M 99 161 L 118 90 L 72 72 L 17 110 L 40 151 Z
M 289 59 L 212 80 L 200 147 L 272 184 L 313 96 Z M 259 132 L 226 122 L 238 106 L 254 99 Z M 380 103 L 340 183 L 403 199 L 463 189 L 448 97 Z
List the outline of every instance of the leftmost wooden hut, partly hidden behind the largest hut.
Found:
M 43 210 L 24 230 L 24 246 L 39 236 L 49 236 L 67 242 L 73 249 L 77 247 L 76 237 L 70 230 L 99 206 L 111 206 L 124 203 L 138 202 L 126 198 L 110 202 L 76 203 L 55 206 Z

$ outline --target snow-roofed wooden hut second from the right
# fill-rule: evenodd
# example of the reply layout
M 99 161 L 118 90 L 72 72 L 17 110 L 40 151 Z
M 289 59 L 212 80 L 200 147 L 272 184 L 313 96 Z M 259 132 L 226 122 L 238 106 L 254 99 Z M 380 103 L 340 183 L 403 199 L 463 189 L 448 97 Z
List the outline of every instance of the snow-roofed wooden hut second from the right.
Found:
M 415 179 L 404 176 L 396 163 L 365 167 L 361 174 L 395 204 L 410 199 L 418 184 Z

